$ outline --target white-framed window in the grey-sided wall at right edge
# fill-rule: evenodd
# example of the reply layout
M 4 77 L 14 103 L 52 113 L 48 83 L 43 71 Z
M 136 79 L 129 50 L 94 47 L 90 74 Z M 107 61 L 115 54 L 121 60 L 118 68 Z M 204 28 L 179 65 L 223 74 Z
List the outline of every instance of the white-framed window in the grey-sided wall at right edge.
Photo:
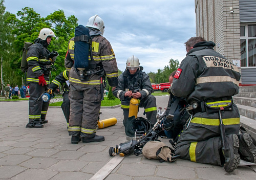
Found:
M 241 66 L 256 66 L 256 25 L 240 26 Z

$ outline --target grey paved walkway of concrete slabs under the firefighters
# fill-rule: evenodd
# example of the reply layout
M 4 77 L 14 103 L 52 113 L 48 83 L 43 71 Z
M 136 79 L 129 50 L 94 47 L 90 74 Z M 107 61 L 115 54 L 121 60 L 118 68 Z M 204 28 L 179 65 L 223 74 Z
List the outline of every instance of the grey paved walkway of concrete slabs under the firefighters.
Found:
M 168 96 L 156 98 L 157 107 L 166 107 Z M 105 179 L 255 179 L 256 176 L 250 167 L 240 166 L 227 173 L 219 166 L 185 160 L 160 163 L 145 159 L 142 154 L 127 155 L 124 159 L 119 155 L 111 157 L 109 148 L 127 141 L 120 107 L 101 109 L 101 120 L 115 117 L 118 121 L 114 126 L 97 130 L 105 141 L 77 145 L 71 144 L 61 108 L 49 108 L 49 123 L 44 128 L 25 128 L 28 101 L 0 101 L 0 107 L 0 179 L 90 179 L 95 174 L 104 174 L 112 162 L 121 160 Z M 139 116 L 142 113 L 140 109 Z M 169 146 L 168 139 L 160 140 Z

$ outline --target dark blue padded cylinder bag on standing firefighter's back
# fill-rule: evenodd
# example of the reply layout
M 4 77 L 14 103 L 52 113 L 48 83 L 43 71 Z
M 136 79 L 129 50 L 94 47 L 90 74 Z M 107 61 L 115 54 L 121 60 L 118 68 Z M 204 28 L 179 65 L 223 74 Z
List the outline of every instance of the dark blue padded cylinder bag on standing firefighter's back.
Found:
M 89 68 L 89 52 L 92 43 L 89 29 L 79 25 L 75 28 L 75 68 Z

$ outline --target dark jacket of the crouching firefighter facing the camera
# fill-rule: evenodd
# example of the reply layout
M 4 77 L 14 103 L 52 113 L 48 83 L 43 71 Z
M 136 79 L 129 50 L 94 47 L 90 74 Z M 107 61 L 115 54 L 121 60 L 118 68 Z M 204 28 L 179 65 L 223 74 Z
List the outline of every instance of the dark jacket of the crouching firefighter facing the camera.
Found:
M 140 69 L 143 70 L 142 67 Z M 142 71 L 138 71 L 135 75 L 131 75 L 125 70 L 118 78 L 118 85 L 113 91 L 113 95 L 121 100 L 122 105 L 129 105 L 131 98 L 124 97 L 126 91 L 129 91 L 131 85 L 134 85 L 136 82 L 139 83 L 139 92 L 141 97 L 139 100 L 143 100 L 143 98 L 154 92 L 154 89 L 150 82 L 150 77 Z M 135 87 L 136 89 L 136 87 Z M 131 90 L 131 89 L 130 89 Z

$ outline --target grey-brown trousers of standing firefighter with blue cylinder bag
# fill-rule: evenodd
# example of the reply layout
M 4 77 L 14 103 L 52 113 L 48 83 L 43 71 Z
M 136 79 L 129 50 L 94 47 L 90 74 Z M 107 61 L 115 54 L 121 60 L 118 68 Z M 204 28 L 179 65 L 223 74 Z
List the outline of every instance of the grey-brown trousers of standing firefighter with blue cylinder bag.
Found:
M 70 84 L 69 136 L 93 138 L 100 111 L 100 88 Z

